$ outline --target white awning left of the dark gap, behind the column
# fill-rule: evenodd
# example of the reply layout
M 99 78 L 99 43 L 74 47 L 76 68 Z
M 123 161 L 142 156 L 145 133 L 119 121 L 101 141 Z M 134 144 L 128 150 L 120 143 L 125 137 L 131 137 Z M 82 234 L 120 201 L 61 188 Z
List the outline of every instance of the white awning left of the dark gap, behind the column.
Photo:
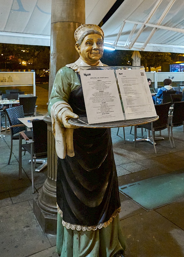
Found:
M 0 0 L 0 43 L 50 46 L 51 2 Z M 115 2 L 86 0 L 86 23 L 99 24 Z

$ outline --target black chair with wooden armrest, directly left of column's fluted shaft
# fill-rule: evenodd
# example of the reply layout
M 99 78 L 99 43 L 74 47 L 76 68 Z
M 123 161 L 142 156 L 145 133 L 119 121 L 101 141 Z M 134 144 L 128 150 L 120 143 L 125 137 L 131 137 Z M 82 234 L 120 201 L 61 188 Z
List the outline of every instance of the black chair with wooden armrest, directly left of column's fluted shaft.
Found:
M 31 154 L 31 180 L 32 190 L 34 190 L 34 176 L 36 158 L 47 157 L 47 124 L 43 120 L 33 120 L 33 140 L 26 136 L 24 132 L 20 132 L 19 137 L 19 174 L 22 173 L 22 148 L 23 151 L 28 151 Z M 22 139 L 25 139 L 27 144 L 22 144 Z

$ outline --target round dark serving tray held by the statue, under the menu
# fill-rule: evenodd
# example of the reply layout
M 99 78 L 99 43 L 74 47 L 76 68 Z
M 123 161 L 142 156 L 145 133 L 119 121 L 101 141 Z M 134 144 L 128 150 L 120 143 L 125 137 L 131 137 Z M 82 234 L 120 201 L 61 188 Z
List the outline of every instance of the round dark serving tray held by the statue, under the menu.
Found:
M 120 121 L 113 122 L 104 122 L 98 124 L 88 124 L 87 117 L 80 117 L 79 119 L 69 119 L 68 123 L 78 127 L 85 128 L 113 128 L 113 127 L 129 127 L 129 126 L 138 126 L 146 123 L 150 123 L 159 119 L 159 116 L 141 118 L 141 119 L 125 119 Z

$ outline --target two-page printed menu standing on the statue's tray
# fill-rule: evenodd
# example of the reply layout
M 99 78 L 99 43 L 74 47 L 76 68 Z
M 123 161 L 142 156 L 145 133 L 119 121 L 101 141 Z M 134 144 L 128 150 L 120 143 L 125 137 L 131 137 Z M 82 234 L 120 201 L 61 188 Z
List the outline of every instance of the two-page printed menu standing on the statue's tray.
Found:
M 80 70 L 89 124 L 156 116 L 144 70 Z

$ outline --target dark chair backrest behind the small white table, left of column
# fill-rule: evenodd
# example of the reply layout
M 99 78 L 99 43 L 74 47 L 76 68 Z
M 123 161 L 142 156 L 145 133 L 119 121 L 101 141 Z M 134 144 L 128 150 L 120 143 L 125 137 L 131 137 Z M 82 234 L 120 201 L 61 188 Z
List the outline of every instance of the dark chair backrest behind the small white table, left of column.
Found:
M 29 96 L 29 97 L 19 96 L 19 102 L 20 102 L 20 105 L 23 106 L 25 116 L 28 117 L 28 116 L 34 115 L 36 99 L 37 99 L 37 96 Z

